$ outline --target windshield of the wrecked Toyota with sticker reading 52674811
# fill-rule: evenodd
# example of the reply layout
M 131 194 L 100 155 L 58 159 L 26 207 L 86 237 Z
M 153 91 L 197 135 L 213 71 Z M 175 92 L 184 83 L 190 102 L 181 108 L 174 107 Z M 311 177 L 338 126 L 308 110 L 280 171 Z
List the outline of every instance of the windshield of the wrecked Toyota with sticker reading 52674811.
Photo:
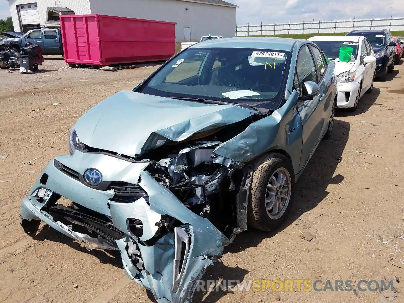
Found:
M 171 98 L 195 98 L 269 107 L 284 81 L 288 52 L 246 48 L 189 49 L 169 62 L 142 93 Z M 253 102 L 251 102 L 253 101 Z M 261 101 L 261 102 L 257 102 Z

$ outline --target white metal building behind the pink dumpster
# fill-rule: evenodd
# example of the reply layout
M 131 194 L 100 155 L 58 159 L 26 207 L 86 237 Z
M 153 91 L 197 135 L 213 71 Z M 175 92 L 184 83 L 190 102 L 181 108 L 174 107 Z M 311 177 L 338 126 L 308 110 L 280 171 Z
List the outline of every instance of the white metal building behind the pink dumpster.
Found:
M 55 12 L 102 14 L 177 22 L 177 41 L 199 40 L 208 34 L 235 36 L 237 5 L 223 0 L 6 0 L 14 30 L 27 32 L 55 25 Z M 56 13 L 57 14 L 57 13 Z M 49 22 L 50 20 L 50 22 Z

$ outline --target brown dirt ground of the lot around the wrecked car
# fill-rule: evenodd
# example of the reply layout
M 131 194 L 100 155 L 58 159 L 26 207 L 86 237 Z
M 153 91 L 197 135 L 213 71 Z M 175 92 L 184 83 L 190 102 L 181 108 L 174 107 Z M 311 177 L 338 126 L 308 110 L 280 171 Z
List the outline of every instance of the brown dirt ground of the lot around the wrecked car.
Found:
M 53 59 L 33 75 L 0 70 L 0 154 L 7 155 L 0 158 L 0 302 L 150 302 L 146 290 L 126 278 L 119 255 L 86 252 L 46 225 L 32 239 L 19 225 L 21 199 L 54 156 L 68 153 L 67 133 L 78 117 L 156 69 L 63 67 L 63 60 Z M 356 113 L 337 112 L 333 137 L 320 143 L 297 183 L 287 222 L 271 233 L 240 234 L 204 280 L 350 279 L 355 286 L 397 276 L 404 283 L 403 74 L 404 64 L 396 66 L 362 97 Z M 307 230 L 316 237 L 310 242 L 301 237 Z M 404 287 L 395 287 L 398 297 L 386 302 L 404 302 Z M 194 302 L 278 302 L 278 296 L 286 302 L 358 301 L 353 292 L 267 289 L 198 292 Z M 360 293 L 362 302 L 381 297 Z

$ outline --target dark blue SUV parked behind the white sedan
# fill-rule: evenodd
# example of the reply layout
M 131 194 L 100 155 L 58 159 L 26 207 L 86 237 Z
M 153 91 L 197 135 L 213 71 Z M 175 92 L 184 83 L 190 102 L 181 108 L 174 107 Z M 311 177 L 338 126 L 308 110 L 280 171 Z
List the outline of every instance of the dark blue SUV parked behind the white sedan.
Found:
M 393 72 L 396 42 L 387 29 L 368 31 L 356 29 L 346 36 L 364 36 L 369 40 L 375 52 L 377 78 L 384 81 L 387 73 Z

